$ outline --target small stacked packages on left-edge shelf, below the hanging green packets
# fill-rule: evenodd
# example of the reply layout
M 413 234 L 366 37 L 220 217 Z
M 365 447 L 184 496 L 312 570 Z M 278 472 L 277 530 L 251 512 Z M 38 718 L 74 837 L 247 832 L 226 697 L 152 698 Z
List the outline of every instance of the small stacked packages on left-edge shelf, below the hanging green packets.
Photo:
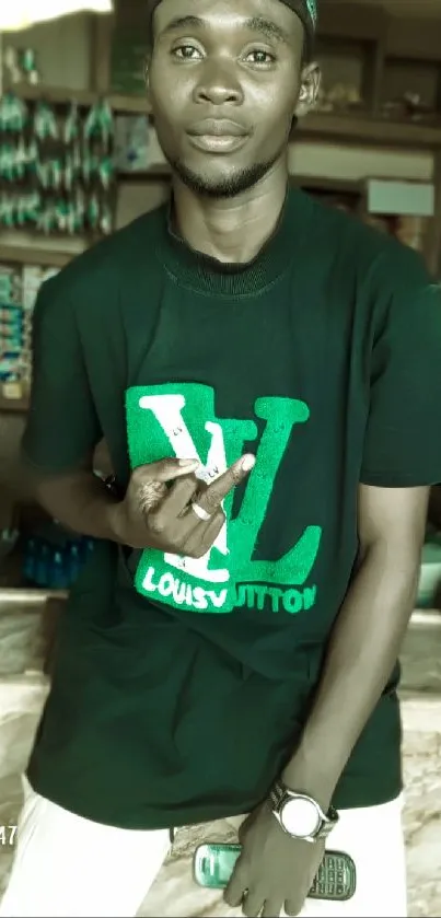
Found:
M 28 395 L 32 380 L 32 316 L 42 283 L 56 268 L 0 265 L 0 393 Z

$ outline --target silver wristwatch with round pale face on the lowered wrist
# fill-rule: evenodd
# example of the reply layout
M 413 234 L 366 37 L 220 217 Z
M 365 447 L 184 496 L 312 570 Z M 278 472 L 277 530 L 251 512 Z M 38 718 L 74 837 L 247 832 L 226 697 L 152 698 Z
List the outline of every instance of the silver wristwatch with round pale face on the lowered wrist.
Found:
M 338 823 L 338 813 L 334 806 L 324 813 L 316 800 L 290 790 L 283 781 L 276 781 L 269 801 L 276 820 L 291 838 L 317 841 L 327 838 Z

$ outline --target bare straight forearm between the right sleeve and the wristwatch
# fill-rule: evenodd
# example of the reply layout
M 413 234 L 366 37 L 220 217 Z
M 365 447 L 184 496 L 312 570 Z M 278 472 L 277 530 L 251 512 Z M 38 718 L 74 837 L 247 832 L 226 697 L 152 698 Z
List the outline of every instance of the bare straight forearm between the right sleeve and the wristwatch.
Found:
M 428 496 L 427 487 L 359 488 L 358 572 L 302 740 L 282 775 L 325 810 L 399 653 L 418 585 Z

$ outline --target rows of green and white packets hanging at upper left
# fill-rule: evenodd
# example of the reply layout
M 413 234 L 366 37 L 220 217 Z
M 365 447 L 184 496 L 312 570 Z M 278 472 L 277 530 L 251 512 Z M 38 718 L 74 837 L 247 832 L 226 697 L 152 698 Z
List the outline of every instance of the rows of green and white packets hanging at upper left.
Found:
M 105 100 L 88 109 L 0 95 L 0 228 L 111 233 L 113 133 Z

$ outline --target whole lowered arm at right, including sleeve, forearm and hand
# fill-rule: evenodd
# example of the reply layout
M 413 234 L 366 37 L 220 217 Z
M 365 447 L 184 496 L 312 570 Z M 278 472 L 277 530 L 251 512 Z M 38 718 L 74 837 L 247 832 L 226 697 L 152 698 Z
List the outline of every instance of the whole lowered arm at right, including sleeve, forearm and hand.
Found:
M 401 246 L 384 249 L 365 283 L 374 334 L 358 475 L 358 567 L 300 743 L 280 776 L 324 811 L 399 655 L 417 590 L 429 487 L 441 480 L 440 286 Z M 298 915 L 324 840 L 291 838 L 266 801 L 244 823 L 241 841 L 227 902 L 243 903 L 246 916 L 279 915 L 283 903 L 287 914 Z

